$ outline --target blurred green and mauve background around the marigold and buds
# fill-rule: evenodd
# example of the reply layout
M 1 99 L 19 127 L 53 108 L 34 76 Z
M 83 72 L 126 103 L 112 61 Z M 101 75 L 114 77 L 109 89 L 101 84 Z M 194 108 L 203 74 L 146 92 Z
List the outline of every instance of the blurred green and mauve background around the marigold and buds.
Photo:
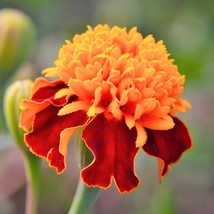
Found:
M 35 24 L 37 41 L 28 60 L 6 77 L 6 84 L 35 78 L 53 66 L 65 39 L 87 25 L 137 26 L 144 35 L 164 40 L 179 71 L 186 75 L 184 96 L 193 108 L 180 117 L 193 138 L 193 148 L 157 183 L 156 160 L 141 152 L 136 159 L 140 187 L 120 195 L 113 185 L 103 191 L 95 214 L 212 214 L 214 212 L 214 4 L 210 0 L 0 0 Z M 1 33 L 1 29 L 0 29 Z M 1 41 L 0 41 L 1 42 Z M 2 81 L 1 81 L 2 82 Z M 1 98 L 4 88 L 1 87 Z M 39 214 L 64 214 L 79 178 L 70 146 L 68 170 L 57 175 L 43 163 Z M 143 155 L 142 155 L 143 154 Z M 0 132 L 0 214 L 24 213 L 25 173 L 20 152 L 7 131 Z

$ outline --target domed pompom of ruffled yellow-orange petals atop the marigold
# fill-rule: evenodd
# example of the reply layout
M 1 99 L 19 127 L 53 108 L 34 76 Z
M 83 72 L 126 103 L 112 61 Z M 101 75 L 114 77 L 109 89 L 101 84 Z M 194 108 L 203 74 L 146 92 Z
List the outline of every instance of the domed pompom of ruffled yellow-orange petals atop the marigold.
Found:
M 163 42 L 155 42 L 152 35 L 142 37 L 136 28 L 127 31 L 117 26 L 88 26 L 85 33 L 66 41 L 55 65 L 44 73 L 56 76 L 58 72 L 70 93 L 79 101 L 91 103 L 84 110 L 92 117 L 105 111 L 119 119 L 125 116 L 129 127 L 140 120 L 147 128 L 165 130 L 173 127 L 169 113 L 190 107 L 179 98 L 185 77 L 169 59 Z M 114 94 L 106 85 L 111 85 Z M 106 101 L 100 107 L 102 97 Z M 164 115 L 153 115 L 164 107 L 168 108 Z M 165 124 L 161 126 L 161 122 Z

